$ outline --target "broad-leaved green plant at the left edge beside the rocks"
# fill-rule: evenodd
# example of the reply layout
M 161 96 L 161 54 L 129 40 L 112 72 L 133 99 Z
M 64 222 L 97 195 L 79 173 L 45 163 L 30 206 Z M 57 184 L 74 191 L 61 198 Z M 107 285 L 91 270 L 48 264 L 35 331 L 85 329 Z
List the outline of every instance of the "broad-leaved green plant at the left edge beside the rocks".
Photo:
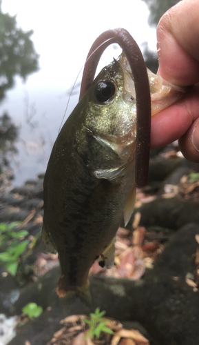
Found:
M 19 224 L 19 221 L 0 224 L 0 265 L 6 267 L 11 275 L 16 275 L 20 257 L 29 243 L 28 239 L 21 241 L 28 235 L 28 231 L 13 230 Z

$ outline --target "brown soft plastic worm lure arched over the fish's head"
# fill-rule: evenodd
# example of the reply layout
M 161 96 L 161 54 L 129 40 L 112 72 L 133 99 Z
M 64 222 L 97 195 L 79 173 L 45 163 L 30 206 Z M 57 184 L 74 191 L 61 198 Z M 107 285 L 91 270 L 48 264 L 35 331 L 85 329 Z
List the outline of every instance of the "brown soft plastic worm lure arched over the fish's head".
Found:
M 138 187 L 143 187 L 147 184 L 149 172 L 151 97 L 147 68 L 142 52 L 127 30 L 123 28 L 107 30 L 94 41 L 85 62 L 79 99 L 81 99 L 90 88 L 94 80 L 98 61 L 104 50 L 112 43 L 118 43 L 124 50 L 134 76 L 137 119 L 136 185 Z

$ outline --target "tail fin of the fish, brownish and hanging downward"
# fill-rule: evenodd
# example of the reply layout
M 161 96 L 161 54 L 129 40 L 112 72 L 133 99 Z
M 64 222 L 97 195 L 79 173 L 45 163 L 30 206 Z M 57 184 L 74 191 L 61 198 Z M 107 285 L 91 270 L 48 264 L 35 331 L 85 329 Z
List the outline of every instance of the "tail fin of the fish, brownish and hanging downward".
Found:
M 65 286 L 64 276 L 61 276 L 59 279 L 59 286 L 56 288 L 56 293 L 59 297 L 64 298 L 65 302 L 68 304 L 74 303 L 77 298 L 81 299 L 81 302 L 86 306 L 91 306 L 92 304 L 92 295 L 90 293 L 90 284 L 88 280 L 84 286 L 69 288 Z

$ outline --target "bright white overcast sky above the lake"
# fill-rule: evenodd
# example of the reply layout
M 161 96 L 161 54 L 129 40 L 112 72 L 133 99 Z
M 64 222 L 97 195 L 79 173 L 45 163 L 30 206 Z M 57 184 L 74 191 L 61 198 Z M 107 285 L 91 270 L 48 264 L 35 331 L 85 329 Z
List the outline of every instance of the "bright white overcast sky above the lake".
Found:
M 156 30 L 147 25 L 141 0 L 3 0 L 2 10 L 17 14 L 23 30 L 34 30 L 41 71 L 28 84 L 37 88 L 70 87 L 94 39 L 109 28 L 125 28 L 139 46 L 148 41 L 156 49 Z

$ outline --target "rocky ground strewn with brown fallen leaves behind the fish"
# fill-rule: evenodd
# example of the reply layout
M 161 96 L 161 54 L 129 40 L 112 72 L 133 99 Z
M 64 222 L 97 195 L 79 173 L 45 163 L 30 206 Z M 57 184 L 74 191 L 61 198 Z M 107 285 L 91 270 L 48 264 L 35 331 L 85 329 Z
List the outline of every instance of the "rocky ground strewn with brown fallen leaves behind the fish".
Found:
M 124 327 L 138 329 L 151 345 L 199 344 L 199 179 L 193 175 L 199 167 L 176 151 L 169 147 L 152 154 L 149 184 L 138 190 L 127 229 L 121 224 L 118 230 L 114 268 L 92 267 L 91 307 L 79 300 L 67 304 L 56 296 L 59 262 L 45 253 L 39 236 L 43 175 L 1 193 L 0 223 L 21 221 L 30 244 L 35 238 L 36 244 L 23 259 L 23 274 L 12 277 L 1 267 L 0 311 L 21 315 L 29 302 L 43 307 L 39 317 L 19 324 L 10 345 L 72 344 L 66 336 L 50 342 L 63 329 L 61 319 L 89 314 L 96 307 Z M 125 344 L 122 337 L 119 341 Z M 133 341 L 128 344 L 141 344 Z M 112 344 L 112 339 L 101 344 Z

